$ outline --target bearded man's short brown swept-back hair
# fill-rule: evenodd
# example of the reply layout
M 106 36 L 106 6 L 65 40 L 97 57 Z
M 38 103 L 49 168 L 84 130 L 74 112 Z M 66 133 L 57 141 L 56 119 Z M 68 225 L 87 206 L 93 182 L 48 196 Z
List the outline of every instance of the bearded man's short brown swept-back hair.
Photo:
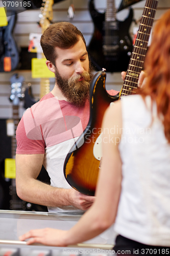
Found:
M 42 34 L 40 44 L 47 60 L 55 65 L 57 53 L 55 47 L 68 49 L 79 41 L 79 36 L 86 41 L 80 30 L 69 22 L 57 22 L 50 25 Z

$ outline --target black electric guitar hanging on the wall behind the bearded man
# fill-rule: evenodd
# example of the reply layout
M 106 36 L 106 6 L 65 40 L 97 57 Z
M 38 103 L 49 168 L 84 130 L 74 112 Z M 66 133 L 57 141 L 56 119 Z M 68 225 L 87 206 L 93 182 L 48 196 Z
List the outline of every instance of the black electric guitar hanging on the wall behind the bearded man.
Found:
M 132 38 L 129 35 L 133 10 L 130 9 L 129 16 L 123 22 L 116 19 L 114 0 L 107 0 L 106 13 L 96 11 L 94 0 L 90 0 L 89 11 L 94 23 L 94 33 L 88 46 L 88 53 L 96 70 L 127 70 L 133 49 Z

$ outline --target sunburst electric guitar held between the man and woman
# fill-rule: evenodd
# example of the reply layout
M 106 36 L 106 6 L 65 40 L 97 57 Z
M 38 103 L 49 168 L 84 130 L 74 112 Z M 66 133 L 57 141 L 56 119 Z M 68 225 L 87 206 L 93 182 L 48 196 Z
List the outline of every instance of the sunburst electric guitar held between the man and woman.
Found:
M 137 88 L 157 5 L 158 0 L 147 0 L 145 4 L 120 97 L 131 94 L 133 89 Z M 110 102 L 119 98 L 108 95 L 105 90 L 105 80 L 106 73 L 99 71 L 91 81 L 89 122 L 77 143 L 71 148 L 64 163 L 64 176 L 67 182 L 81 193 L 91 196 L 95 193 L 102 159 L 98 145 L 101 141 L 99 133 L 103 115 Z

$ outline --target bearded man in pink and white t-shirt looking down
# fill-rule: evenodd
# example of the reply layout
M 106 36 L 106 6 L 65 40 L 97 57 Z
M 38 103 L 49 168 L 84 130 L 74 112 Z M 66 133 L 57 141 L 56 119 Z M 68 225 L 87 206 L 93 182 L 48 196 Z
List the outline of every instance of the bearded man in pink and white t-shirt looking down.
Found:
M 84 212 L 94 197 L 70 187 L 63 164 L 89 120 L 92 68 L 82 33 L 59 22 L 41 36 L 46 66 L 55 73 L 54 89 L 28 109 L 17 131 L 16 190 L 25 201 L 46 205 L 53 212 Z M 117 94 L 112 90 L 112 95 Z M 37 180 L 42 164 L 51 185 Z

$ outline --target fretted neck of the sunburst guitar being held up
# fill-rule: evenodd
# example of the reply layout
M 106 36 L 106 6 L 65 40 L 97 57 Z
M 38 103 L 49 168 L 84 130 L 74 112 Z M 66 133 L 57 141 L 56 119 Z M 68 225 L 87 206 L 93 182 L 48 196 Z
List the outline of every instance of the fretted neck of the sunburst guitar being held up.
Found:
M 143 68 L 157 5 L 158 0 L 147 0 L 145 4 L 120 98 L 131 94 L 133 89 L 138 86 L 139 74 Z

